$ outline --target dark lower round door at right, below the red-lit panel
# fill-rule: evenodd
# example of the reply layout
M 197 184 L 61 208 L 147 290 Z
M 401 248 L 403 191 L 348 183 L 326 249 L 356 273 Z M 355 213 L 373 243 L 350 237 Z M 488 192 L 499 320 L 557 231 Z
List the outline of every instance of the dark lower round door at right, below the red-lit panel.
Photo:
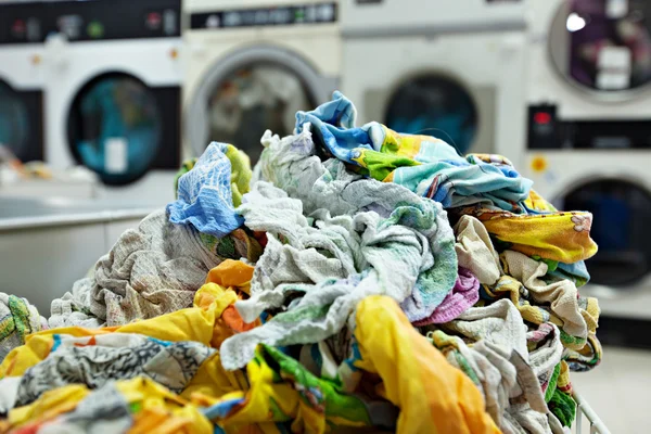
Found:
M 586 261 L 591 283 L 634 288 L 651 271 L 651 192 L 622 179 L 576 186 L 559 201 L 561 209 L 592 213 L 590 235 L 599 252 Z

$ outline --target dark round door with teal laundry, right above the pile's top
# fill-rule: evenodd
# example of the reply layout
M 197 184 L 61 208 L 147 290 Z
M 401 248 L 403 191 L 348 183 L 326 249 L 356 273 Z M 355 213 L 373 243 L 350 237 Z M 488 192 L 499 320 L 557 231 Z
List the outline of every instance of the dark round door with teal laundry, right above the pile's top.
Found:
M 472 151 L 478 114 L 471 92 L 443 75 L 422 75 L 404 81 L 386 104 L 384 123 L 398 132 L 442 139 L 464 155 Z

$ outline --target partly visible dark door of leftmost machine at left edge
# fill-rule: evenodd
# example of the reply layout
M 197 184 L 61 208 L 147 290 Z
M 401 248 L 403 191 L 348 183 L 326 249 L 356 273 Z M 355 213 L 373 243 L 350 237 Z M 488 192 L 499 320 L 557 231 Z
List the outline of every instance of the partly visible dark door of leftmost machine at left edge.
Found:
M 40 116 L 40 92 L 18 92 L 0 80 L 0 144 L 23 162 L 42 159 Z

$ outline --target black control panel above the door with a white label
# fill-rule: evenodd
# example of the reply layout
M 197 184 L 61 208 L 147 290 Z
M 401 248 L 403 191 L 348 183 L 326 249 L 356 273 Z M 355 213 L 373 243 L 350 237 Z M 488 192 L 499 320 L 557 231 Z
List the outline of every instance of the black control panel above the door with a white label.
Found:
M 180 0 L 64 0 L 46 8 L 47 31 L 71 42 L 181 35 Z

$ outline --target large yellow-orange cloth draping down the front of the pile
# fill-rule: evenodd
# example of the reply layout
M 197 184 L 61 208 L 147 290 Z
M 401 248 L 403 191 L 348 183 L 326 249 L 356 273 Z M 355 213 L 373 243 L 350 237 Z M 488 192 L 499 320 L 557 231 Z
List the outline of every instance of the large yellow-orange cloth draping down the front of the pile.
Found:
M 387 399 L 400 408 L 398 433 L 500 432 L 472 381 L 413 329 L 392 298 L 365 298 L 356 324 L 356 365 L 382 378 Z

